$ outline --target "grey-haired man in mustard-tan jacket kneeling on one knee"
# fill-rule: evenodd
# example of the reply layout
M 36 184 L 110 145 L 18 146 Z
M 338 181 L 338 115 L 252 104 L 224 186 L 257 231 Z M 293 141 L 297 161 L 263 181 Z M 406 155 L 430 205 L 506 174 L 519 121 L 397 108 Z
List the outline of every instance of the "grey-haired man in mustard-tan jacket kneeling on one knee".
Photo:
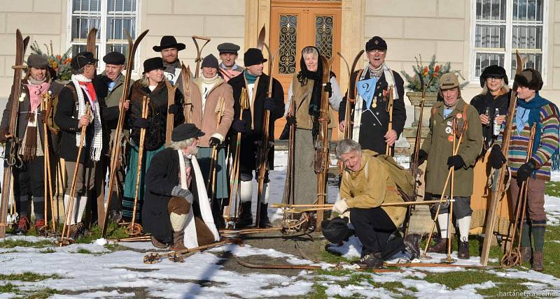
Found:
M 404 206 L 381 207 L 382 203 L 402 203 L 397 186 L 377 153 L 362 150 L 356 141 L 341 140 L 337 158 L 344 163 L 340 184 L 340 200 L 332 211 L 350 212 L 356 236 L 363 244 L 360 268 L 381 268 L 383 262 L 400 251 L 409 251 L 412 258 L 419 254 L 419 235 L 407 235 L 403 242 L 398 226 L 405 219 Z M 406 244 L 405 244 L 406 243 Z M 406 249 L 405 249 L 406 245 Z

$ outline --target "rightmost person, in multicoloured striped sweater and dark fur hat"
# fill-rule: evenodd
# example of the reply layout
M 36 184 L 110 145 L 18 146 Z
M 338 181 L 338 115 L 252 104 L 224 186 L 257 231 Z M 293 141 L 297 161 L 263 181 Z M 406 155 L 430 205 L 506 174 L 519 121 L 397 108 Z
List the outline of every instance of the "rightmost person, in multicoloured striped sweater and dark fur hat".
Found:
M 507 166 L 511 168 L 512 182 L 510 196 L 512 206 L 519 200 L 519 185 L 526 182 L 527 207 L 522 213 L 528 214 L 526 221 L 521 224 L 521 261 L 531 261 L 535 271 L 544 270 L 542 263 L 545 247 L 545 231 L 547 215 L 545 212 L 545 183 L 550 180 L 552 170 L 559 170 L 559 110 L 554 103 L 542 98 L 539 91 L 542 88 L 540 73 L 534 68 L 526 68 L 515 75 L 513 83 L 517 91 L 517 103 L 512 122 L 511 141 L 507 155 Z M 528 142 L 531 127 L 536 126 L 533 139 L 533 150 L 526 162 Z M 493 168 L 501 168 L 506 162 L 501 152 L 502 135 L 496 140 L 490 152 Z M 531 248 L 531 235 L 533 246 Z M 531 260 L 532 258 L 532 260 Z

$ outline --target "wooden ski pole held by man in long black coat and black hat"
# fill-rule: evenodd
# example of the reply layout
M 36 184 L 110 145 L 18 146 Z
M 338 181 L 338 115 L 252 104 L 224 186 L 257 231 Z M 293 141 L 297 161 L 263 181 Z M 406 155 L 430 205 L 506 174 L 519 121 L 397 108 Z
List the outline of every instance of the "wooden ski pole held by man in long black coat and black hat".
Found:
M 239 112 L 239 121 L 243 120 L 243 111 L 249 108 L 249 99 L 247 95 L 247 89 L 245 87 L 241 88 L 241 96 L 239 97 L 239 105 L 241 110 Z M 235 200 L 233 204 L 234 207 L 234 219 L 237 220 L 237 197 L 239 196 L 239 149 L 241 147 L 241 133 L 237 132 L 237 142 L 235 143 L 235 153 L 233 153 L 232 169 L 230 173 L 230 200 L 228 201 L 228 206 L 224 208 L 223 218 L 226 225 L 230 221 L 230 205 L 232 200 Z

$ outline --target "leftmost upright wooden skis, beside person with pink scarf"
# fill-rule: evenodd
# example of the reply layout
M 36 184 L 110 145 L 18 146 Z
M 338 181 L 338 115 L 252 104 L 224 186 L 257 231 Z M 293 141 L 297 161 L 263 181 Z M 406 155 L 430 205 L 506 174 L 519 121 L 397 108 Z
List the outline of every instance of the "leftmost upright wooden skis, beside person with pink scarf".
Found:
M 27 49 L 27 43 L 29 43 L 29 36 L 25 39 L 22 37 L 20 29 L 15 30 L 15 64 L 13 68 L 13 84 L 12 84 L 12 107 L 10 112 L 10 123 L 8 125 L 9 136 L 8 141 L 4 145 L 4 152 L 9 154 L 13 150 L 7 150 L 8 147 L 15 147 L 18 143 L 18 109 L 20 105 L 20 95 L 22 92 L 22 70 L 25 68 L 23 65 L 23 59 L 25 57 L 25 50 Z M 10 143 L 10 145 L 8 145 Z M 17 152 L 16 152 L 17 153 Z M 2 180 L 2 195 L 0 201 L 0 238 L 6 236 L 6 226 L 8 217 L 8 200 L 10 198 L 11 186 L 10 179 L 12 176 L 13 165 L 10 163 L 5 163 L 4 174 Z M 46 215 L 45 215 L 46 216 Z

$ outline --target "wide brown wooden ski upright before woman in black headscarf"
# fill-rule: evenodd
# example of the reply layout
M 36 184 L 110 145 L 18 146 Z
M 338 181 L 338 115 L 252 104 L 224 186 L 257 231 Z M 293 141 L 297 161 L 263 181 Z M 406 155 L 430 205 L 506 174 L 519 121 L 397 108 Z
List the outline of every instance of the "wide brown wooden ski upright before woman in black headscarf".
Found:
M 321 94 L 321 109 L 319 110 L 319 133 L 315 141 L 315 157 L 314 168 L 317 174 L 317 198 L 315 202 L 318 205 L 324 205 L 327 202 L 327 172 L 330 166 L 328 156 L 328 92 L 324 87 L 330 80 L 330 67 L 334 57 L 326 59 L 321 55 L 321 63 L 323 64 L 323 91 Z M 318 210 L 316 214 L 316 229 L 321 232 L 321 222 L 323 222 L 323 210 Z

